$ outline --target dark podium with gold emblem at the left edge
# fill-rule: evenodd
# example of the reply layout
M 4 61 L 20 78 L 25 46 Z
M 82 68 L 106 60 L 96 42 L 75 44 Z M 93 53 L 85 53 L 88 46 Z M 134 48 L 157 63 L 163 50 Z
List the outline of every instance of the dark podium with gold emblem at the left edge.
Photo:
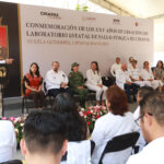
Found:
M 8 83 L 8 66 L 5 63 L 0 63 L 0 117 L 4 116 L 3 110 L 3 90 Z

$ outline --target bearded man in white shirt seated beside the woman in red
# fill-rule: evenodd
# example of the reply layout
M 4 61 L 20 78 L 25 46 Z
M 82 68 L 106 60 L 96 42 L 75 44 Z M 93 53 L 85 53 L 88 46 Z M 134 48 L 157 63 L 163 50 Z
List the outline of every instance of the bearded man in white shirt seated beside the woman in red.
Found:
M 52 62 L 52 69 L 47 72 L 45 82 L 48 95 L 56 97 L 61 92 L 72 95 L 71 89 L 68 86 L 68 77 L 59 70 L 58 61 Z

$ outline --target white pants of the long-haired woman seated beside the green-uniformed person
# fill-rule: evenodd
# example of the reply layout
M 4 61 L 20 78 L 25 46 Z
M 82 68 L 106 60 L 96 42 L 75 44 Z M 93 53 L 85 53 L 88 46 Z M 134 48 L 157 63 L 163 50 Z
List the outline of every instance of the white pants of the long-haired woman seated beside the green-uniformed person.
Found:
M 95 91 L 96 92 L 96 101 L 101 101 L 101 95 L 102 99 L 106 99 L 106 90 L 107 87 L 103 85 L 103 87 L 96 86 L 96 85 L 87 85 L 89 90 Z

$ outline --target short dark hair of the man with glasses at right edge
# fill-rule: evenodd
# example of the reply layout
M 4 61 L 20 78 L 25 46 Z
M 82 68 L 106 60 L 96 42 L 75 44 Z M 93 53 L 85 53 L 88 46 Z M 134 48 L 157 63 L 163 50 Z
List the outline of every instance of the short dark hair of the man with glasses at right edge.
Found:
M 159 125 L 164 126 L 164 93 L 152 92 L 140 102 L 140 114 L 152 114 Z

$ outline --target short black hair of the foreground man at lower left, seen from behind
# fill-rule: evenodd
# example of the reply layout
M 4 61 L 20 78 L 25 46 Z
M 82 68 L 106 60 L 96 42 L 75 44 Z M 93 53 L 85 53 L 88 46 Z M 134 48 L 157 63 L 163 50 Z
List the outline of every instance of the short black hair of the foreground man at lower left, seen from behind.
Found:
M 24 125 L 24 139 L 31 153 L 49 151 L 58 154 L 67 139 L 62 115 L 49 110 L 32 112 Z

